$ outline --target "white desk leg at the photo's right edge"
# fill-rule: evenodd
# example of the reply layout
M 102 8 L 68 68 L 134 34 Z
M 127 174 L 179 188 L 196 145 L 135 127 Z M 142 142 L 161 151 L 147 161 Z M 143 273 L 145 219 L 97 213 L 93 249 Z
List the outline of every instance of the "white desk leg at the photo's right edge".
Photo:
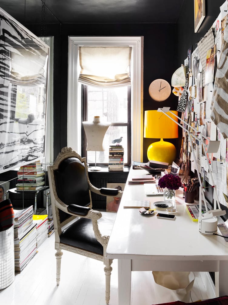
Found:
M 215 296 L 227 296 L 228 285 L 227 285 L 227 274 L 228 274 L 228 261 L 219 261 L 219 272 L 215 272 Z

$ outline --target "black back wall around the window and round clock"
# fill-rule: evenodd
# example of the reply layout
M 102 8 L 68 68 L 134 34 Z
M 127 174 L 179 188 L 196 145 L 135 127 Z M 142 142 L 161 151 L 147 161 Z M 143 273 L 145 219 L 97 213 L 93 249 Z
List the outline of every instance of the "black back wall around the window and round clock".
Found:
M 40 26 L 26 25 L 40 35 Z M 150 83 L 164 78 L 171 83 L 178 68 L 175 24 L 63 24 L 48 25 L 47 35 L 54 36 L 54 158 L 67 145 L 67 66 L 68 36 L 143 36 L 143 110 L 171 106 L 176 109 L 177 98 L 171 94 L 165 102 L 153 101 L 148 93 Z M 75 118 L 77 119 L 77 118 Z M 151 139 L 143 141 L 143 161 L 147 162 L 147 147 Z M 173 140 L 174 144 L 178 141 Z

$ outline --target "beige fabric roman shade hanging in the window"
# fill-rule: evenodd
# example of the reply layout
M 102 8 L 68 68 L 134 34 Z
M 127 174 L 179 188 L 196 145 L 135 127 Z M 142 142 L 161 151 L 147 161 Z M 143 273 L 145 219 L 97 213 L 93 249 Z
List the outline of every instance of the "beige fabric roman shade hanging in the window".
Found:
M 79 47 L 78 81 L 92 86 L 128 86 L 131 47 Z

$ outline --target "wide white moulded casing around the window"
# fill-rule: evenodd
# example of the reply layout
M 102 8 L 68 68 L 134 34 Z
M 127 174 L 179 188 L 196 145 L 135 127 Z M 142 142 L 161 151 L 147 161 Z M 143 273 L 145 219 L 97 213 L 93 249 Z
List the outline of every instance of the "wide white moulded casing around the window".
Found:
M 81 84 L 78 83 L 80 46 L 131 46 L 131 157 L 143 158 L 143 37 L 68 37 L 67 146 L 81 152 Z

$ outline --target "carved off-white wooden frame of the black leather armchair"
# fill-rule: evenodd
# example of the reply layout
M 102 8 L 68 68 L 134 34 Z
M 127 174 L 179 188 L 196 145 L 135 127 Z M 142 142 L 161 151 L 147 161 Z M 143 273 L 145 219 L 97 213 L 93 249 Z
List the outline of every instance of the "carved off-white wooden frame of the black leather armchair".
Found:
M 82 216 L 82 215 L 79 215 L 76 213 L 69 212 L 69 210 L 67 210 L 68 206 L 64 202 L 62 202 L 57 196 L 57 192 L 55 189 L 54 170 L 58 169 L 59 164 L 64 159 L 67 159 L 69 157 L 78 158 L 82 163 L 85 164 L 87 181 L 88 181 L 88 185 L 89 185 L 89 196 L 90 196 L 90 205 L 88 207 L 90 207 L 90 209 L 91 209 L 88 211 L 88 214 L 86 216 Z M 64 147 L 61 150 L 61 152 L 58 154 L 56 160 L 54 161 L 53 165 L 48 167 L 48 177 L 49 177 L 49 183 L 50 183 L 50 196 L 51 196 L 51 205 L 52 205 L 52 213 L 53 213 L 53 221 L 54 221 L 55 249 L 57 250 L 57 252 L 55 253 L 57 285 L 59 285 L 59 283 L 60 283 L 60 267 L 61 267 L 61 258 L 63 255 L 63 252 L 61 251 L 61 249 L 71 251 L 74 253 L 78 253 L 78 254 L 84 255 L 86 257 L 91 257 L 96 260 L 103 261 L 103 263 L 105 265 L 105 267 L 104 267 L 105 301 L 106 301 L 106 304 L 108 304 L 109 299 L 110 299 L 110 277 L 111 277 L 111 271 L 112 271 L 112 267 L 111 267 L 112 260 L 105 258 L 105 253 L 106 253 L 106 248 L 107 248 L 108 241 L 109 241 L 109 236 L 102 235 L 101 232 L 99 231 L 97 221 L 99 218 L 102 217 L 102 213 L 99 211 L 96 211 L 96 210 L 92 210 L 92 200 L 91 200 L 90 191 L 95 192 L 99 195 L 103 195 L 103 196 L 113 196 L 113 194 L 106 195 L 106 194 L 104 194 L 104 192 L 102 192 L 101 188 L 96 188 L 95 186 L 93 186 L 91 184 L 91 182 L 89 181 L 89 177 L 88 177 L 86 158 L 82 158 L 80 155 L 78 155 L 77 152 L 73 151 L 71 147 Z M 104 188 L 103 188 L 103 190 L 104 190 Z M 115 191 L 116 191 L 116 189 L 115 189 Z M 122 196 L 122 192 L 118 191 L 118 195 L 116 197 L 120 197 L 120 196 Z M 70 214 L 71 217 L 69 217 L 67 220 L 63 221 L 62 223 L 60 223 L 60 217 L 59 217 L 59 213 L 58 213 L 57 209 L 60 209 L 67 214 Z M 103 249 L 104 249 L 103 256 L 96 254 L 96 253 L 88 252 L 86 250 L 78 249 L 71 245 L 65 245 L 63 243 L 60 243 L 60 235 L 62 233 L 62 228 L 64 226 L 66 226 L 69 222 L 71 222 L 72 220 L 74 220 L 75 218 L 78 218 L 78 217 L 85 217 L 85 218 L 89 218 L 92 220 L 92 226 L 93 226 L 93 231 L 94 231 L 95 237 L 96 237 L 97 241 L 103 246 Z

